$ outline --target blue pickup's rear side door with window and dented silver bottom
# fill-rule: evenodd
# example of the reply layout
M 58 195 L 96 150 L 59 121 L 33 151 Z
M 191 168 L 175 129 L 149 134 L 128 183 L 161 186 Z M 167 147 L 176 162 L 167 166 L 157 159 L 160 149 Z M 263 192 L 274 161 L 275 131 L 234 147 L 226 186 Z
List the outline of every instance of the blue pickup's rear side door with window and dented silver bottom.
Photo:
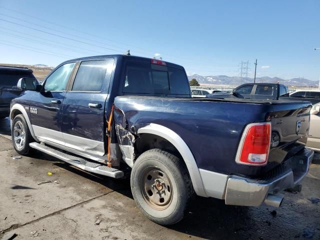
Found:
M 79 62 L 62 106 L 65 146 L 98 156 L 105 154 L 104 106 L 113 64 L 113 58 Z

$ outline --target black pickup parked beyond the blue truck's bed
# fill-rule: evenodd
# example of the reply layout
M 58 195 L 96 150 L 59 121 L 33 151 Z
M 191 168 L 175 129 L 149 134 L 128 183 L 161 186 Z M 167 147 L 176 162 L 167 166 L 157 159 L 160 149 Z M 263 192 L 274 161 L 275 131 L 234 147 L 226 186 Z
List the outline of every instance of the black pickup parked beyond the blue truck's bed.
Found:
M 266 100 L 301 100 L 312 104 L 320 102 L 320 98 L 307 95 L 291 95 L 287 86 L 278 83 L 245 83 L 235 87 L 230 93 L 208 94 L 214 98 L 246 98 Z

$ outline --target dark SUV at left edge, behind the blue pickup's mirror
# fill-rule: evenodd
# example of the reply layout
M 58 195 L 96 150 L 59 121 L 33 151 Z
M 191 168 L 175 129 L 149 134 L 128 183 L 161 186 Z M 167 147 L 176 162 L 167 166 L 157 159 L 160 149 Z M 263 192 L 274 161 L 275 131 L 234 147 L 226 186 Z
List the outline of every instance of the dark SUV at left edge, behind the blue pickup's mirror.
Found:
M 20 95 L 16 83 L 21 77 L 35 78 L 26 67 L 0 66 L 0 118 L 9 116 L 10 101 Z

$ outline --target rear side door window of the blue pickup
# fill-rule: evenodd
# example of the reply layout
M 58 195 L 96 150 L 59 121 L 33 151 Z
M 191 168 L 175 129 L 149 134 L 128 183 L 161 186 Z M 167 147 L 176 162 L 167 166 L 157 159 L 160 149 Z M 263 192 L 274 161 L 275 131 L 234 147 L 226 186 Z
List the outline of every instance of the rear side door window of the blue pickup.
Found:
M 113 62 L 113 58 L 110 59 Z M 108 60 L 82 61 L 74 78 L 72 91 L 100 91 Z

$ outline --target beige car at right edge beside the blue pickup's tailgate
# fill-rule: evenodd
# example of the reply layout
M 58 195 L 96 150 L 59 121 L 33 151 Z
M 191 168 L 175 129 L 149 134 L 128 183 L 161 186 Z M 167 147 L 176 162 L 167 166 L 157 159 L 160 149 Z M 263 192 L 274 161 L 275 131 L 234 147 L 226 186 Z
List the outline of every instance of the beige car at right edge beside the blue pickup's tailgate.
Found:
M 306 146 L 320 151 L 320 103 L 314 104 L 310 110 L 310 129 Z

